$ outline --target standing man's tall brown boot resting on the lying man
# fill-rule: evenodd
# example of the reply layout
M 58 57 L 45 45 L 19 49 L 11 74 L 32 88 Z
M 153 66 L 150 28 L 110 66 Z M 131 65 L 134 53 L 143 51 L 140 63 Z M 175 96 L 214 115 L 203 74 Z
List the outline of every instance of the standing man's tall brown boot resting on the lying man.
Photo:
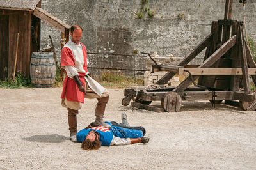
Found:
M 104 123 L 103 121 L 103 116 L 104 116 L 104 112 L 105 112 L 105 107 L 106 104 L 108 103 L 108 97 L 102 97 L 102 98 L 97 98 L 98 99 L 98 103 L 97 106 L 95 108 L 95 121 L 93 122 L 93 127 L 97 127 L 97 126 L 104 126 L 104 127 L 110 127 L 108 124 Z

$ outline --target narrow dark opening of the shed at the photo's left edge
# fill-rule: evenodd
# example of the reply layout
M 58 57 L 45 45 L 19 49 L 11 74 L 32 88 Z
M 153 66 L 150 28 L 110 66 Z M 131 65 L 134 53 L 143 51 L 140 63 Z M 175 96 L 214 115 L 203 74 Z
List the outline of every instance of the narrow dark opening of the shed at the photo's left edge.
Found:
M 8 78 L 8 15 L 0 17 L 0 81 Z

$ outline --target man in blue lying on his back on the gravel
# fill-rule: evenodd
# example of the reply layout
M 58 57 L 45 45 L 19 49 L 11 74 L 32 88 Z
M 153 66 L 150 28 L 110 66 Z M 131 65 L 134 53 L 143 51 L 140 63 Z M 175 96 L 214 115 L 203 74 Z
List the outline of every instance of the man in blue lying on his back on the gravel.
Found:
M 90 127 L 92 123 L 77 135 L 77 142 L 82 143 L 84 150 L 98 150 L 100 146 L 126 145 L 148 143 L 149 138 L 143 137 L 146 130 L 143 127 L 130 127 L 127 116 L 122 113 L 122 123 L 108 122 L 110 128 L 104 126 Z

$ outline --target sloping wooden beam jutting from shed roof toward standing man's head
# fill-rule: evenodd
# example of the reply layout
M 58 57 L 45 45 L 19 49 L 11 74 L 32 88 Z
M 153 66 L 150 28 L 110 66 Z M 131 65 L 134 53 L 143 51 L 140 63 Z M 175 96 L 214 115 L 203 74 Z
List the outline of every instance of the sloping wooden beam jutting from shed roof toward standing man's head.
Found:
M 60 19 L 57 19 L 56 17 L 51 15 L 51 13 L 43 10 L 42 8 L 36 7 L 33 11 L 33 15 L 35 15 L 39 19 L 44 20 L 51 26 L 56 27 L 58 30 L 61 31 L 61 33 L 65 33 L 65 29 L 70 29 L 70 26 L 68 24 L 62 22 Z

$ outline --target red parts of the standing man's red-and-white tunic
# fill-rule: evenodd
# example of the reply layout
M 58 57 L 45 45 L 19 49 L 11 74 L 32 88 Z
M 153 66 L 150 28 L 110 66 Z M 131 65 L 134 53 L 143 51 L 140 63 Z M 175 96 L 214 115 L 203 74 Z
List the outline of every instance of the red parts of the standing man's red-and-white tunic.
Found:
M 85 72 L 87 72 L 87 53 L 86 53 L 86 47 L 81 43 L 82 50 L 83 50 L 83 56 L 84 56 L 84 65 L 83 68 Z M 72 54 L 72 50 L 68 47 L 68 45 L 65 45 L 63 49 L 61 50 L 61 67 L 64 66 L 74 66 L 75 65 L 75 59 Z M 65 72 L 66 73 L 66 72 Z M 85 85 L 84 75 L 85 73 L 79 73 L 79 79 L 83 83 L 83 86 Z M 67 74 L 67 73 L 66 73 Z M 84 102 L 84 92 L 79 91 L 76 82 L 74 79 L 70 79 L 68 76 L 65 77 L 65 80 L 63 82 L 63 89 L 61 93 L 61 98 L 67 98 L 68 101 L 73 102 Z

